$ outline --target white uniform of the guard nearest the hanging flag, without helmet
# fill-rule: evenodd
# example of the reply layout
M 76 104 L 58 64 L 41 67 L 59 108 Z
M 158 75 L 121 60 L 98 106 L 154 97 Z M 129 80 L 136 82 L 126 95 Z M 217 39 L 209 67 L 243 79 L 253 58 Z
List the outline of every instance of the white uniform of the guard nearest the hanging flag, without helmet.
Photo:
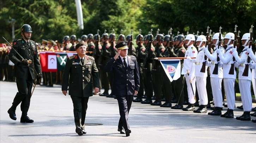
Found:
M 196 55 L 197 55 L 196 47 L 194 47 L 193 44 L 188 46 L 188 49 L 186 50 L 186 53 L 185 53 L 185 57 L 187 56 L 196 57 Z M 188 73 L 189 73 L 189 76 L 188 76 Z M 186 79 L 186 83 L 188 87 L 187 90 L 188 90 L 189 103 L 194 104 L 196 102 L 195 100 L 195 94 L 196 94 L 195 63 L 192 63 L 189 59 L 184 59 L 181 74 L 184 75 Z M 190 84 L 190 79 L 192 80 L 191 84 L 192 84 L 193 90 Z

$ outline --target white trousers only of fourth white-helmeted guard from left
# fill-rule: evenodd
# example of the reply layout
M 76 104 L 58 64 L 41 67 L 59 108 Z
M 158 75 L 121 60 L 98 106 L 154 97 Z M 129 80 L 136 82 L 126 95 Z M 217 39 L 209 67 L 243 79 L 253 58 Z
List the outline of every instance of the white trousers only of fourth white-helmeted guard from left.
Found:
M 235 95 L 234 95 L 234 82 L 235 79 L 224 78 L 224 88 L 227 99 L 227 108 L 234 110 Z

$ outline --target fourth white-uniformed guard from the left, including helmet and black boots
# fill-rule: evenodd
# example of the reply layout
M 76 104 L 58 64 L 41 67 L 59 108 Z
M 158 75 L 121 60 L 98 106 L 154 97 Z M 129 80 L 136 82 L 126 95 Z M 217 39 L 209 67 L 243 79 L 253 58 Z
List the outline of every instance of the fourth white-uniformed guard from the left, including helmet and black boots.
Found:
M 233 63 L 232 49 L 234 33 L 227 33 L 224 37 L 224 44 L 227 45 L 226 52 L 223 54 L 220 49 L 216 52 L 219 54 L 220 61 L 223 63 L 223 81 L 227 100 L 227 112 L 220 115 L 221 117 L 233 118 L 234 117 L 234 106 L 235 106 L 235 96 L 234 96 L 234 82 L 236 80 L 236 72 L 234 74 L 228 74 Z M 233 69 L 234 70 L 234 69 Z

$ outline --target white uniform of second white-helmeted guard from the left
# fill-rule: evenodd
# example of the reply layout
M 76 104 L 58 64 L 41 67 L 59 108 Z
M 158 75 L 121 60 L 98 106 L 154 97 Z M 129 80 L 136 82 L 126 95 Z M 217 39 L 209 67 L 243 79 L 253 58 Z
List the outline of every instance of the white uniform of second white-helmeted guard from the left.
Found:
M 206 78 L 207 78 L 207 68 L 205 66 L 205 73 L 201 73 L 203 62 L 205 61 L 205 52 L 203 49 L 205 46 L 202 46 L 198 51 L 196 59 L 192 59 L 192 62 L 195 63 L 195 76 L 196 76 L 196 88 L 198 92 L 198 97 L 200 100 L 200 105 L 208 104 L 207 90 L 206 90 Z

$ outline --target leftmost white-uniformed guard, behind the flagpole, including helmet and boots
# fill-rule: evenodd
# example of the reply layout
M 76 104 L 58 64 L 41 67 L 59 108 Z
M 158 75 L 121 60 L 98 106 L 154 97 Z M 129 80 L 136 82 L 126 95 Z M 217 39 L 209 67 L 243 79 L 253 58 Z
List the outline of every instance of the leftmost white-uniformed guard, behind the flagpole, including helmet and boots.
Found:
M 193 34 L 188 34 L 185 38 L 185 45 L 188 46 L 186 50 L 184 59 L 183 68 L 181 74 L 185 76 L 185 80 L 187 83 L 188 90 L 188 100 L 189 104 L 186 108 L 182 108 L 184 111 L 194 111 L 196 102 L 195 100 L 195 91 L 196 91 L 196 79 L 195 79 L 195 63 L 192 63 L 190 57 L 197 56 L 196 47 L 194 47 L 195 36 Z

